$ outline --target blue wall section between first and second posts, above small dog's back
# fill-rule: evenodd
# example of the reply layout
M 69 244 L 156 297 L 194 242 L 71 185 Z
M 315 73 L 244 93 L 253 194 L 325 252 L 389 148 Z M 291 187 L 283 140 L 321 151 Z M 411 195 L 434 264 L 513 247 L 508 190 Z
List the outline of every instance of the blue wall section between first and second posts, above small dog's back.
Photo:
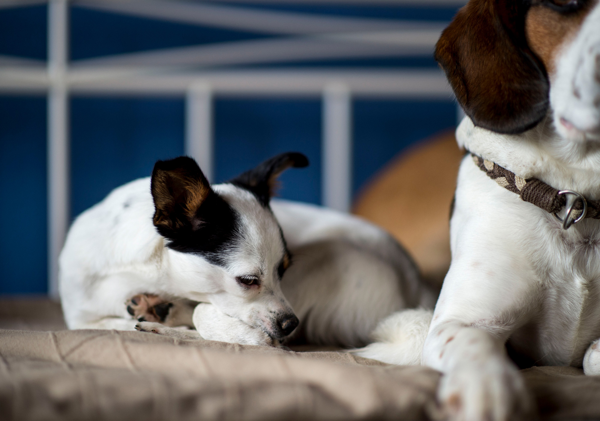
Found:
M 183 99 L 73 98 L 71 216 L 183 154 Z

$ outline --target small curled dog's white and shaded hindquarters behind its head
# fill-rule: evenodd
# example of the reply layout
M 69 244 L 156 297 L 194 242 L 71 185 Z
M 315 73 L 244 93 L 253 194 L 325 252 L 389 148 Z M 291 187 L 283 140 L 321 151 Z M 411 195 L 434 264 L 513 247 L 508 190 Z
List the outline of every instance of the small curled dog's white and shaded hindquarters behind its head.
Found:
M 273 201 L 272 208 L 294 256 L 281 289 L 311 343 L 366 344 L 394 311 L 433 307 L 412 262 L 386 232 L 314 205 Z

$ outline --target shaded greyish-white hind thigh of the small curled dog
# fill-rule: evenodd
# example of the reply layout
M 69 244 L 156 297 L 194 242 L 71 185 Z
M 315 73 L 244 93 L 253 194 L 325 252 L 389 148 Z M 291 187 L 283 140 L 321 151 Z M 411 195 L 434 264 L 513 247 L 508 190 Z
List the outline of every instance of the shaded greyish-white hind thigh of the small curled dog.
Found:
M 281 290 L 301 320 L 293 340 L 355 348 L 370 343 L 377 324 L 415 304 L 403 274 L 380 256 L 342 240 L 292 249 Z

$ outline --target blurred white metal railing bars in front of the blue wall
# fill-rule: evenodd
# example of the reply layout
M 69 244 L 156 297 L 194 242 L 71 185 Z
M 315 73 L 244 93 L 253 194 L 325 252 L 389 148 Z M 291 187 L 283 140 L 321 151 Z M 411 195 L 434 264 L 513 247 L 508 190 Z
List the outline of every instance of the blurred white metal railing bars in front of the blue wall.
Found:
M 319 0 L 294 0 L 302 1 L 319 3 Z M 0 8 L 44 2 L 0 0 Z M 267 32 L 261 22 L 265 22 L 266 15 L 272 15 L 277 18 L 268 20 L 271 26 L 277 27 L 271 28 L 273 32 L 305 34 L 307 37 L 283 43 L 269 40 L 224 47 L 184 47 L 70 63 L 69 0 L 48 2 L 47 63 L 0 57 L 0 92 L 44 92 L 48 95 L 48 273 L 49 295 L 53 298 L 58 297 L 58 255 L 70 219 L 69 95 L 185 96 L 185 153 L 199 162 L 211 181 L 214 179 L 212 102 L 215 95 L 320 96 L 323 101 L 322 202 L 342 211 L 349 210 L 352 192 L 352 98 L 452 98 L 445 77 L 436 69 L 199 71 L 189 68 L 189 65 L 202 63 L 251 63 L 256 54 L 263 54 L 262 60 L 268 62 L 269 54 L 273 56 L 275 50 L 292 59 L 329 57 L 332 52 L 344 49 L 352 49 L 357 56 L 361 56 L 361 51 L 367 56 L 372 55 L 376 49 L 381 50 L 382 56 L 431 52 L 441 31 L 439 24 L 415 26 L 410 22 L 391 20 L 308 15 L 299 19 L 273 11 L 251 12 L 252 19 L 249 19 L 235 7 L 220 2 L 79 0 L 71 3 L 177 22 L 206 24 L 213 19 L 222 21 L 225 26 L 258 25 Z M 464 4 L 464 0 L 378 0 L 376 4 L 458 5 Z M 318 36 L 313 36 L 313 32 Z

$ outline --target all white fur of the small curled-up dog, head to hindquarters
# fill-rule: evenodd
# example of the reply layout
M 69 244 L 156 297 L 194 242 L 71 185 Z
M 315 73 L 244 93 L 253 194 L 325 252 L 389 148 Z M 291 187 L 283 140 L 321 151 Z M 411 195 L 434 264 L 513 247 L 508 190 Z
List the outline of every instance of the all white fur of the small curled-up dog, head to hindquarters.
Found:
M 134 329 L 138 323 L 125 301 L 152 293 L 176 305 L 176 298 L 210 303 L 199 304 L 193 315 L 204 338 L 271 344 L 274 314 L 291 313 L 293 307 L 307 340 L 360 346 L 383 317 L 433 301 L 419 298 L 418 274 L 404 250 L 370 223 L 287 201 L 273 201 L 271 213 L 247 190 L 212 187 L 241 216 L 241 235 L 221 266 L 166 247 L 152 224 L 148 178 L 115 189 L 82 213 L 59 262 L 67 326 Z M 281 281 L 276 272 L 284 244 L 275 216 L 293 255 Z M 235 277 L 245 274 L 259 274 L 260 287 L 242 287 Z M 147 322 L 138 328 L 180 338 L 196 335 Z

